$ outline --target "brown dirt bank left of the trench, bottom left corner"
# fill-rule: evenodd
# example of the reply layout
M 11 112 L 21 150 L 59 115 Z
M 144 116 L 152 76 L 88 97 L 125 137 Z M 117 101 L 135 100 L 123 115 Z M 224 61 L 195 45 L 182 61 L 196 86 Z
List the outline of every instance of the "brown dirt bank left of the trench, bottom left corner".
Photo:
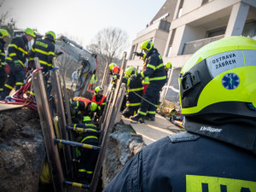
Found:
M 19 108 L 0 113 L 0 190 L 34 192 L 45 159 L 38 113 Z

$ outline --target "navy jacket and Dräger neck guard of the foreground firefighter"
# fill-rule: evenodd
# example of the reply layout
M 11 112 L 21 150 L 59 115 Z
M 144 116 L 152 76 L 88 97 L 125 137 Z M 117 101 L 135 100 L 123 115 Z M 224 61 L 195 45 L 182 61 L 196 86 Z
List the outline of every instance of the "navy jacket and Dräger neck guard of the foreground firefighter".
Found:
M 103 191 L 255 191 L 255 120 L 250 126 L 248 119 L 247 124 L 233 122 L 216 127 L 190 124 L 186 118 L 185 126 L 201 136 L 183 132 L 148 145 Z

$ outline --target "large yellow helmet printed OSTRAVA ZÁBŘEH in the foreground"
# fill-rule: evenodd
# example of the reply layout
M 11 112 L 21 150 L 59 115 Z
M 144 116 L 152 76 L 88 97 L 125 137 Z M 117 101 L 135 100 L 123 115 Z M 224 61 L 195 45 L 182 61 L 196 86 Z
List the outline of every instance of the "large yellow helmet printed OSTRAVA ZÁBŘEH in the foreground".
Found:
M 230 113 L 255 117 L 256 41 L 233 36 L 192 55 L 179 77 L 184 115 Z M 251 106 L 251 108 L 248 108 Z

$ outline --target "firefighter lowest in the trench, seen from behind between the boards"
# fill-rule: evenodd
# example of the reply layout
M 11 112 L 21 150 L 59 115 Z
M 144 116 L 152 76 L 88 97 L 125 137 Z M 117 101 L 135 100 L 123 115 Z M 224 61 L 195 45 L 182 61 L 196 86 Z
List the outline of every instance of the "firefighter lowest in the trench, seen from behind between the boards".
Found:
M 79 137 L 79 143 L 99 145 L 99 129 L 91 122 L 89 116 L 84 116 L 83 123 L 72 125 L 74 128 L 79 127 L 90 132 L 83 132 Z M 95 131 L 95 132 L 93 132 Z M 77 155 L 79 158 L 78 179 L 79 182 L 89 184 L 91 182 L 93 172 L 99 151 L 90 148 L 78 148 Z

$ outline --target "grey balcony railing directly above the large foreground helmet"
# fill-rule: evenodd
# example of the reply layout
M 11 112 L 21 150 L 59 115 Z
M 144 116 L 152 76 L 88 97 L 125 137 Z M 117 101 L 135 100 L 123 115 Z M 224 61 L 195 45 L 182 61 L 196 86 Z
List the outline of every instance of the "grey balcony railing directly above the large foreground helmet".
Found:
M 213 41 L 217 41 L 218 39 L 221 39 L 221 38 L 224 38 L 224 35 L 219 35 L 212 38 L 204 38 L 196 41 L 190 41 L 184 44 L 182 55 L 194 54 L 196 50 L 200 49 L 204 45 L 209 44 Z

